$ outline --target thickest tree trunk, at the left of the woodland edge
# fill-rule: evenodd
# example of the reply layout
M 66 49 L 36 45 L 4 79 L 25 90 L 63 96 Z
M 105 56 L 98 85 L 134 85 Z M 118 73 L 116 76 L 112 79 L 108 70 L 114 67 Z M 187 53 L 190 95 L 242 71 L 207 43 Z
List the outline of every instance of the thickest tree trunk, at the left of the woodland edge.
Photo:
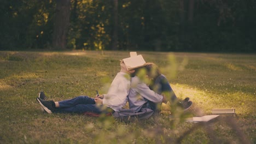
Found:
M 56 11 L 53 29 L 54 49 L 66 49 L 70 8 L 70 0 L 56 0 Z

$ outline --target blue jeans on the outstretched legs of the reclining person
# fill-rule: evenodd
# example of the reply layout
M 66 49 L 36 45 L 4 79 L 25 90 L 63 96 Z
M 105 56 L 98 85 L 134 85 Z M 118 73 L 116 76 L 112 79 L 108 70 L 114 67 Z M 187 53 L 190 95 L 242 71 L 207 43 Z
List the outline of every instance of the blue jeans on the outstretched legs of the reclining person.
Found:
M 58 113 L 109 113 L 113 112 L 110 107 L 104 109 L 104 105 L 96 105 L 94 98 L 88 96 L 79 96 L 73 99 L 59 101 L 60 107 L 56 108 L 54 112 Z

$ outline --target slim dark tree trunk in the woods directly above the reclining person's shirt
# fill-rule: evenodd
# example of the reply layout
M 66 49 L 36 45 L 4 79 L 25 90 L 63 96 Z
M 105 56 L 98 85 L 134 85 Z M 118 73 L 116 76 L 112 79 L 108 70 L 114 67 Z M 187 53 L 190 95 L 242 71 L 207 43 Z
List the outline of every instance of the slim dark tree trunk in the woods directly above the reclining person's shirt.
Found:
M 118 50 L 118 0 L 114 0 L 112 50 Z

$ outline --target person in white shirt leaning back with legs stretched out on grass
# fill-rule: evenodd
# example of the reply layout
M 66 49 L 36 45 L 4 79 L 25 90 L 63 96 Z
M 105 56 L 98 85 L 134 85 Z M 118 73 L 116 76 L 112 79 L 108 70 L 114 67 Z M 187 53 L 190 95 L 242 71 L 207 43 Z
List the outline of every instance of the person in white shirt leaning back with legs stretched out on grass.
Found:
M 96 95 L 96 98 L 79 96 L 73 99 L 52 101 L 45 100 L 45 94 L 39 93 L 38 103 L 43 111 L 48 113 L 95 113 L 111 114 L 126 105 L 130 89 L 130 74 L 135 70 L 127 70 L 123 61 L 120 62 L 120 72 L 112 81 L 106 95 Z

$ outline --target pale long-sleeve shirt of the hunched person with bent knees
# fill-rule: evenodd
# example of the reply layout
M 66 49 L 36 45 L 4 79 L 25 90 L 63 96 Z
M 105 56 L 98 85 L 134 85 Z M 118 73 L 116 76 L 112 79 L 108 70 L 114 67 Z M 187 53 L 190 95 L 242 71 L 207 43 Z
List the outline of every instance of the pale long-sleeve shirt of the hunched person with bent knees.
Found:
M 139 77 L 135 76 L 131 78 L 131 88 L 128 95 L 130 109 L 139 111 L 148 101 L 161 103 L 163 98 L 162 95 L 149 89 L 146 83 L 139 80 Z

